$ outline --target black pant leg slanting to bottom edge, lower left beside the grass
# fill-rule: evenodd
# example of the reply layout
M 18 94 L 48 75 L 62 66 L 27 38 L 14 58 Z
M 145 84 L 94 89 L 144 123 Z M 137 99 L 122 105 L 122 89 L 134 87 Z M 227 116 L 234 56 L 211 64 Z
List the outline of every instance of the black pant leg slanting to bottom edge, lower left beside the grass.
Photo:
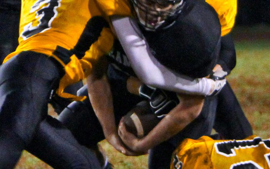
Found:
M 26 150 L 55 169 L 101 168 L 96 155 L 79 144 L 66 126 L 49 115 L 39 123 Z

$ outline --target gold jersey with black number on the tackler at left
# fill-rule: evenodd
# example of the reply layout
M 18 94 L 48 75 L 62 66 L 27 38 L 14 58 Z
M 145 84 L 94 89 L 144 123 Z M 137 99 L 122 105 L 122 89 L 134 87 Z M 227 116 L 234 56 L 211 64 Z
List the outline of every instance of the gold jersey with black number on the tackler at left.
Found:
M 63 65 L 66 73 L 60 81 L 57 94 L 81 100 L 82 98 L 63 93 L 63 90 L 66 86 L 88 76 L 93 62 L 111 49 L 114 39 L 112 31 L 109 24 L 99 24 L 99 19 L 104 23 L 102 17 L 108 19 L 108 15 L 130 15 L 129 6 L 125 1 L 119 4 L 112 2 L 110 0 L 22 0 L 19 45 L 4 62 L 21 51 L 35 51 L 54 57 Z M 87 32 L 91 31 L 96 32 L 90 38 L 82 37 L 89 35 Z M 80 50 L 80 46 L 84 46 L 80 42 L 85 43 L 87 40 L 91 43 L 88 42 L 86 52 L 77 51 L 81 52 L 82 56 L 78 57 L 71 52 L 76 45 Z M 85 46 L 82 48 L 85 50 Z

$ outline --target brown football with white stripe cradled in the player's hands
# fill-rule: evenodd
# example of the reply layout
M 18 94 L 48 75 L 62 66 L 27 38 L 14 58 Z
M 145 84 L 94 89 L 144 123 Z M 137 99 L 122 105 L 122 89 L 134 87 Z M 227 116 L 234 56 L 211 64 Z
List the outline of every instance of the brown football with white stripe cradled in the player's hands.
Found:
M 148 101 L 139 102 L 123 116 L 127 131 L 139 138 L 147 135 L 159 121 L 160 119 L 152 112 Z

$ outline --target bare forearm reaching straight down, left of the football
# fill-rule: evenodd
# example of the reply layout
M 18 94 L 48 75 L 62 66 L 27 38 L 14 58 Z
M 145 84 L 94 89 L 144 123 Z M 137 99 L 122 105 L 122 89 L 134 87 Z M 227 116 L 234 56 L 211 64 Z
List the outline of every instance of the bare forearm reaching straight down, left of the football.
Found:
M 112 104 L 112 94 L 107 77 L 87 78 L 88 95 L 94 112 L 104 131 L 105 137 L 117 133 Z

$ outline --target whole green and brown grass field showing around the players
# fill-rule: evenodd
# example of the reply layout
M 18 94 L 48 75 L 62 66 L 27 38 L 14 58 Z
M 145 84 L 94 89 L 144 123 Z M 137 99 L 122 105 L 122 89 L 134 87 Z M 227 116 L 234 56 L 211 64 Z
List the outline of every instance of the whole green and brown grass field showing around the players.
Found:
M 234 92 L 250 121 L 254 134 L 270 137 L 270 27 L 251 29 L 237 27 L 233 31 L 237 64 L 228 76 Z M 52 111 L 50 109 L 50 111 Z M 147 155 L 126 157 L 117 153 L 106 141 L 101 145 L 116 169 L 147 168 Z M 16 169 L 50 168 L 24 152 Z

